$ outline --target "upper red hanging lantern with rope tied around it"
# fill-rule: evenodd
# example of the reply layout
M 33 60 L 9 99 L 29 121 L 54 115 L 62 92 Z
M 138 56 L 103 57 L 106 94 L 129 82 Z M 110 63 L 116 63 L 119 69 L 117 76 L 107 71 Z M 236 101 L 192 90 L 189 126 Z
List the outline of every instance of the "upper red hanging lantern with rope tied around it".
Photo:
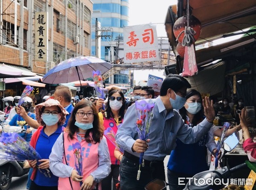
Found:
M 176 22 L 173 25 L 173 33 L 176 38 L 178 37 L 180 32 L 185 30 L 185 26 L 187 26 L 187 16 L 180 17 L 176 20 Z M 194 35 L 194 37 L 195 37 L 195 40 L 197 40 L 201 34 L 201 22 L 193 15 L 189 15 L 189 26 L 193 30 L 195 30 L 196 34 Z M 178 38 L 178 41 L 180 43 L 182 43 L 183 37 L 184 37 L 184 32 Z

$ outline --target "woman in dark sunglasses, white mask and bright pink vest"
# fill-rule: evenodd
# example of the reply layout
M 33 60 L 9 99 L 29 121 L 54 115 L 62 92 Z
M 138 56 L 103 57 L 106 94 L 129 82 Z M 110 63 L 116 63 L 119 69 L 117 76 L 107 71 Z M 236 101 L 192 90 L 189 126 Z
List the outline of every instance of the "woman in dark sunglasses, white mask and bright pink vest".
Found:
M 99 113 L 100 118 L 103 119 L 104 130 L 111 127 L 114 133 L 117 132 L 119 124 L 122 124 L 125 115 L 125 97 L 121 89 L 111 89 L 108 91 L 108 102 L 105 113 Z M 119 164 L 122 159 L 122 153 L 115 150 L 115 145 L 107 138 L 108 149 L 111 158 L 111 173 L 107 178 L 102 180 L 102 190 L 116 190 L 119 176 Z M 115 152 L 115 153 L 114 153 Z M 116 156 L 115 156 L 116 155 Z M 111 187 L 111 180 L 113 178 L 113 187 Z

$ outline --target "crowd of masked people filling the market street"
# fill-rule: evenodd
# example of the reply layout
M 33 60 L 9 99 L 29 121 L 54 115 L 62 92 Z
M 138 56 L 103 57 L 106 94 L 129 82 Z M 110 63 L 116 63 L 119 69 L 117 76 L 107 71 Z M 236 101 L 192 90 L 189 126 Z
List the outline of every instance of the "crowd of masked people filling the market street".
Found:
M 23 125 L 20 133 L 41 155 L 28 160 L 28 190 L 142 190 L 155 178 L 166 180 L 163 160 L 170 155 L 167 173 L 171 190 L 183 189 L 179 177 L 192 177 L 208 170 L 207 149 L 215 155 L 213 136 L 222 131 L 213 125 L 216 114 L 231 112 L 229 102 L 223 99 L 221 110 L 209 97 L 189 89 L 191 85 L 180 75 L 164 79 L 160 96 L 154 96 L 150 86 L 135 86 L 133 98 L 125 99 L 121 89 L 113 87 L 106 99 L 72 97 L 67 86 L 57 86 L 52 96 L 44 95 L 42 103 L 29 112 L 32 99 L 26 97 L 17 105 L 20 96 L 6 97 L 5 112 L 9 125 Z M 187 90 L 189 89 L 189 90 Z M 141 140 L 137 132 L 135 101 L 154 104 L 149 138 Z M 256 161 L 255 144 L 250 138 L 244 116 L 242 99 L 236 112 L 239 124 L 227 130 L 226 136 L 242 129 L 245 132 L 244 150 Z M 104 106 L 103 106 L 104 105 Z M 216 112 L 217 111 L 217 112 Z M 106 131 L 111 130 L 111 140 Z M 33 132 L 33 134 L 32 134 Z M 140 167 L 140 153 L 144 153 Z M 187 154 L 190 156 L 188 157 Z M 218 152 L 218 157 L 221 152 Z M 192 164 L 193 163 L 193 164 Z M 140 167 L 140 179 L 137 171 Z M 40 169 L 47 169 L 50 178 Z M 111 181 L 113 180 L 113 183 Z

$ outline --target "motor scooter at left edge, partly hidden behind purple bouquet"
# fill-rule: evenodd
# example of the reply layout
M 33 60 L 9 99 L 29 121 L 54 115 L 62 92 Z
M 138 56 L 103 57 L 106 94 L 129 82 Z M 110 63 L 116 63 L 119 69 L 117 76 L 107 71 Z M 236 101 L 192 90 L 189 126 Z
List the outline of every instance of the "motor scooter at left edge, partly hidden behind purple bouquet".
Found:
M 3 132 L 26 132 L 21 127 L 4 127 Z M 2 132 L 0 132 L 2 133 Z M 29 168 L 23 168 L 23 161 L 0 160 L 0 190 L 8 190 L 12 177 L 21 177 L 29 173 Z

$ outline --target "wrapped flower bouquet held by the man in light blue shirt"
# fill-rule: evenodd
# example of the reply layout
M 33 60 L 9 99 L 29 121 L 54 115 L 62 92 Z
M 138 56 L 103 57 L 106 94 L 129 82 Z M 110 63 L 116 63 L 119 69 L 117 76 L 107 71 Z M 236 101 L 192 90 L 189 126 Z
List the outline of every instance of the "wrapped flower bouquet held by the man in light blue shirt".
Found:
M 148 134 L 150 130 L 151 121 L 153 118 L 153 108 L 154 103 L 150 104 L 146 101 L 135 101 L 136 106 L 136 116 L 137 116 L 137 132 L 139 138 L 143 141 L 148 139 Z M 140 166 L 143 165 L 143 155 L 144 153 L 140 153 Z M 140 179 L 140 166 L 137 174 L 137 180 Z

